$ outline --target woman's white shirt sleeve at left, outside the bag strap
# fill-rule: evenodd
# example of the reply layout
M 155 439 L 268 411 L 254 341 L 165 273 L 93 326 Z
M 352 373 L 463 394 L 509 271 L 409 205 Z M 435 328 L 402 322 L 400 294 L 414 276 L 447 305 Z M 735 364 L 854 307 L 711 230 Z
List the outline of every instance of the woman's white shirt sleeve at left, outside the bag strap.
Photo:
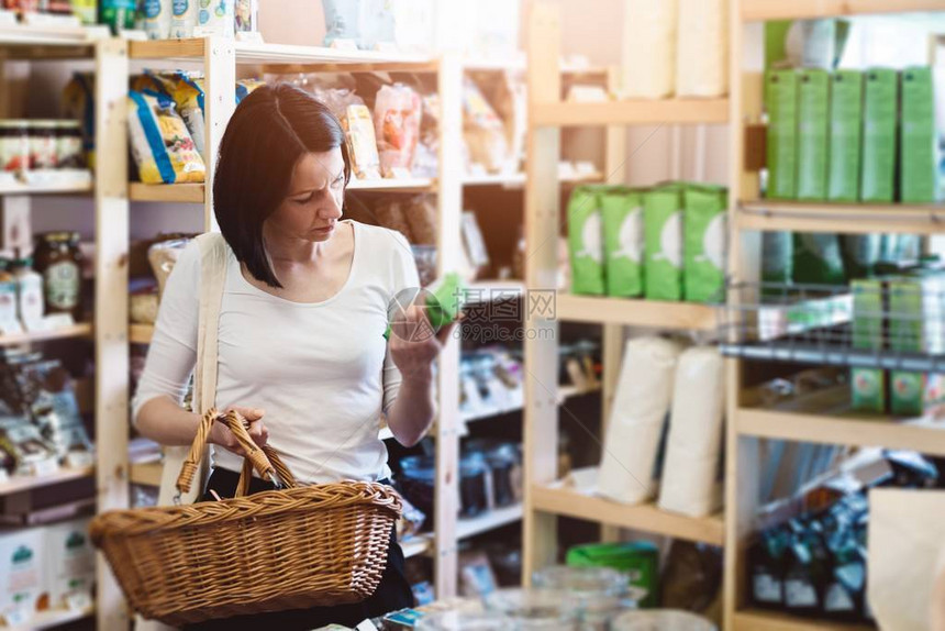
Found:
M 147 401 L 167 396 L 184 402 L 197 363 L 199 323 L 200 247 L 185 247 L 160 298 L 154 336 L 147 351 L 144 374 L 132 401 L 132 419 Z

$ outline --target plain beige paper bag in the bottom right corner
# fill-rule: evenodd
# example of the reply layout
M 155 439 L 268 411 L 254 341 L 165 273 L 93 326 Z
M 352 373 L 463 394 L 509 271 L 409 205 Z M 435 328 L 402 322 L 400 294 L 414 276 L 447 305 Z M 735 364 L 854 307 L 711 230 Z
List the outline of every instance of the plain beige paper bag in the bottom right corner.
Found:
M 936 563 L 945 550 L 945 491 L 869 491 L 867 598 L 879 628 L 924 631 Z

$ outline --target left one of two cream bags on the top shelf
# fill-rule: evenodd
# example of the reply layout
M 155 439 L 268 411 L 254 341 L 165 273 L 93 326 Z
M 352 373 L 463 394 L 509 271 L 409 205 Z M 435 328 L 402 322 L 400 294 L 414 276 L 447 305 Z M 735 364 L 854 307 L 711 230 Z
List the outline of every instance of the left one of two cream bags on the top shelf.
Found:
M 626 0 L 623 89 L 627 99 L 662 99 L 676 87 L 677 0 Z

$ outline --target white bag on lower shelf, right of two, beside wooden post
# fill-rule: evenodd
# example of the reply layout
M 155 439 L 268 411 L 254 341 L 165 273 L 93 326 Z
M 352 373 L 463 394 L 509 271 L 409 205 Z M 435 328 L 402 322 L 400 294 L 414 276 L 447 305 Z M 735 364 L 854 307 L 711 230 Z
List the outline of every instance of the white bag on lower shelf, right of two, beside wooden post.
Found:
M 720 508 L 722 485 L 716 473 L 724 402 L 725 372 L 719 350 L 685 351 L 676 367 L 659 508 L 690 517 L 705 517 Z

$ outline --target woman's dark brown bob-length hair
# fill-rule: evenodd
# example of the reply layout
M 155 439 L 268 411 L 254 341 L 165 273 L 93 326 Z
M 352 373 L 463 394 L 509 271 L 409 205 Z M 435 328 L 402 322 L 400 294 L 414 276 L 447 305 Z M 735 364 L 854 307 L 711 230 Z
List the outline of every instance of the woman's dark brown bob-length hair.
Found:
M 296 163 L 335 147 L 342 150 L 347 186 L 351 159 L 341 122 L 294 86 L 262 86 L 236 106 L 220 141 L 213 211 L 226 243 L 257 280 L 281 288 L 266 256 L 263 222 L 289 193 Z

